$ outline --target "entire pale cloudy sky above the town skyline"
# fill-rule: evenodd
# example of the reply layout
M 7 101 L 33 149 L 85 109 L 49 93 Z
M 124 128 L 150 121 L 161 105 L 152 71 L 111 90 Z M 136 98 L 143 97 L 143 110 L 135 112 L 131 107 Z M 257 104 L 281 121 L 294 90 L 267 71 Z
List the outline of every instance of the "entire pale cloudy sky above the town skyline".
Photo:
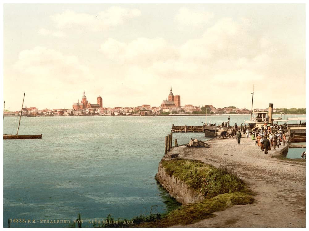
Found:
M 6 108 L 305 107 L 304 4 L 5 4 Z

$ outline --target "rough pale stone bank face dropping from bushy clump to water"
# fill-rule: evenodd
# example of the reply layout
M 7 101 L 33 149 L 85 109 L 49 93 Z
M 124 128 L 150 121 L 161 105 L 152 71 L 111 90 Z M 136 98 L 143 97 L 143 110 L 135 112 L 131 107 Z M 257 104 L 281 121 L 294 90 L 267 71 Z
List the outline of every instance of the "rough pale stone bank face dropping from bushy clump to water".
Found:
M 183 205 L 199 202 L 205 199 L 200 193 L 194 192 L 187 184 L 166 173 L 162 163 L 159 163 L 158 173 L 155 179 L 167 190 L 171 197 Z

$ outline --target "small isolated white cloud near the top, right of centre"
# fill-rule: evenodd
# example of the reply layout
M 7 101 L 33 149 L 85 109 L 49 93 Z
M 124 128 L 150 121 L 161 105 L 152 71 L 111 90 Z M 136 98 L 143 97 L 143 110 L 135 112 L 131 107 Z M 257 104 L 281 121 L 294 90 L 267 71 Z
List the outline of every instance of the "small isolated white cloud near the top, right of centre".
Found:
M 212 18 L 214 18 L 214 14 L 212 13 L 181 7 L 175 15 L 174 21 L 180 27 L 198 27 L 208 23 Z

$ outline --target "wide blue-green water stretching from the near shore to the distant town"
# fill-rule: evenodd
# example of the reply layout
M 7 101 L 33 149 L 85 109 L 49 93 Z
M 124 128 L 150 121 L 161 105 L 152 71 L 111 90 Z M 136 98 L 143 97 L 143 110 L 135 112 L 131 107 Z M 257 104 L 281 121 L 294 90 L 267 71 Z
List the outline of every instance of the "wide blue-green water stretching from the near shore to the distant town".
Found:
M 16 133 L 17 117 L 4 118 Z M 250 115 L 231 115 L 231 125 Z M 208 116 L 222 123 L 227 116 Z M 179 204 L 155 181 L 171 125 L 202 125 L 205 116 L 23 117 L 20 135 L 41 140 L 3 140 L 4 227 L 9 218 L 83 220 L 165 213 Z M 178 144 L 203 133 L 174 133 Z M 66 227 L 11 223 L 11 227 Z M 83 224 L 83 227 L 87 223 Z M 91 225 L 89 225 L 91 226 Z

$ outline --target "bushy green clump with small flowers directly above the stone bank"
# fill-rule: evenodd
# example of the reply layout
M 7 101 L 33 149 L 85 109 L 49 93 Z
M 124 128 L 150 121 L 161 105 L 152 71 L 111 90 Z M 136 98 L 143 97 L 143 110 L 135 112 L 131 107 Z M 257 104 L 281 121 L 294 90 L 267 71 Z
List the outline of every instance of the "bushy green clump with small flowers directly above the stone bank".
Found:
M 167 174 L 184 181 L 190 188 L 197 193 L 202 193 L 206 198 L 224 193 L 251 193 L 235 173 L 226 168 L 215 168 L 200 160 L 163 160 L 162 166 Z

